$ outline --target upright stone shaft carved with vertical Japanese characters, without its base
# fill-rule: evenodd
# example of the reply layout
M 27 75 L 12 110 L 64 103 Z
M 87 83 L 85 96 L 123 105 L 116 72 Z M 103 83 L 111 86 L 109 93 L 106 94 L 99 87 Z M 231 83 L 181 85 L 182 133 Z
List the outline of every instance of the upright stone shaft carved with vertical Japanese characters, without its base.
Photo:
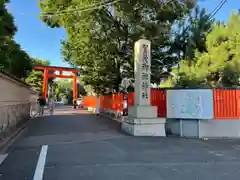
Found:
M 135 105 L 150 105 L 151 43 L 140 39 L 135 43 Z

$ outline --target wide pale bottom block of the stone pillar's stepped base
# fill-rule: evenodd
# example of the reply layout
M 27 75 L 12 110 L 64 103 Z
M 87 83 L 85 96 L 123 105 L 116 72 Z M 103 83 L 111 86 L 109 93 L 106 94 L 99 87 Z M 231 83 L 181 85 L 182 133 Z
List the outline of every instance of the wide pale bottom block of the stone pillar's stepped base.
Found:
M 133 136 L 166 136 L 165 118 L 129 118 L 122 122 L 122 130 Z

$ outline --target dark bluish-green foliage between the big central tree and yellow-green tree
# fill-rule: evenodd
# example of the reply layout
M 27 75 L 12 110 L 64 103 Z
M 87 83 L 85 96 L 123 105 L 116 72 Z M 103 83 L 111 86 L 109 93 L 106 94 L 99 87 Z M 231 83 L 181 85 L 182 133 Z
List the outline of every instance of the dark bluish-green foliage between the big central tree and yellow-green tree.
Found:
M 196 6 L 186 17 L 176 23 L 170 52 L 177 55 L 178 60 L 194 58 L 194 51 L 206 51 L 206 35 L 210 32 L 214 19 L 205 8 Z

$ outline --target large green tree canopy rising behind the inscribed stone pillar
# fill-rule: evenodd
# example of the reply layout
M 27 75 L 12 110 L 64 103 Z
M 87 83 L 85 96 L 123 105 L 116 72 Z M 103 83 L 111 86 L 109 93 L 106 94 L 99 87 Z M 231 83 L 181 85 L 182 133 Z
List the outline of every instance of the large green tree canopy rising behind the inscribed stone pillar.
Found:
M 84 83 L 95 92 L 108 93 L 119 90 L 122 78 L 133 77 L 133 47 L 138 39 L 152 42 L 153 82 L 160 81 L 162 67 L 176 63 L 165 49 L 172 24 L 188 11 L 185 3 L 45 0 L 40 7 L 46 24 L 67 31 L 68 38 L 62 42 L 65 60 L 81 67 Z

